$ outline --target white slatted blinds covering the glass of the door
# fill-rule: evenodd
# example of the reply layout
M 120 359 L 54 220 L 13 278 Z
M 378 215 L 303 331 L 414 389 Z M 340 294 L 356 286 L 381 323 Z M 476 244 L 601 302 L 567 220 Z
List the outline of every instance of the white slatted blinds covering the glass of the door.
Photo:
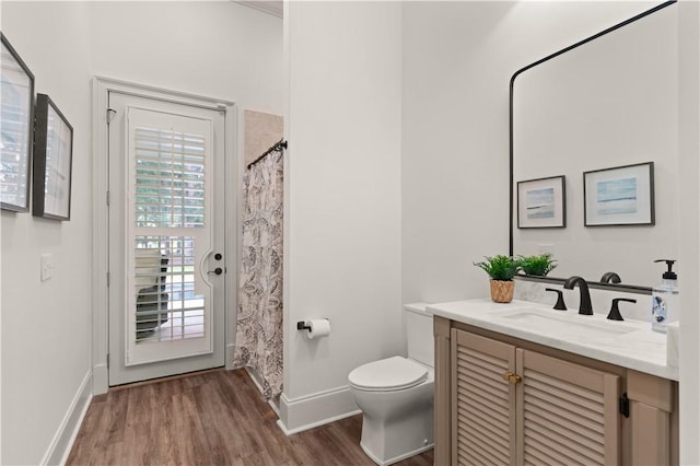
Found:
M 205 336 L 195 237 L 206 224 L 206 138 L 137 126 L 133 138 L 136 341 Z M 159 234 L 165 229 L 173 234 Z M 153 234 L 143 234 L 148 231 Z

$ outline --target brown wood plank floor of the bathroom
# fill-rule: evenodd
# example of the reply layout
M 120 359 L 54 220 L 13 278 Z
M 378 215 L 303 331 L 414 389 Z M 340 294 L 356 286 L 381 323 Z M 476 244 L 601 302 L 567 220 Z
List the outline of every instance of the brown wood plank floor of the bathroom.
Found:
M 285 436 L 247 373 L 210 371 L 96 396 L 68 465 L 373 465 L 362 417 Z M 433 452 L 398 465 L 433 464 Z

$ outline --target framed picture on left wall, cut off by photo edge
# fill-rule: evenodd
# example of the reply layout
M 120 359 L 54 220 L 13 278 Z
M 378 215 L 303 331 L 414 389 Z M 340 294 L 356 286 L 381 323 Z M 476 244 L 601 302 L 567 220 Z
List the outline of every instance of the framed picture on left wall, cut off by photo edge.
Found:
M 0 33 L 0 207 L 30 210 L 34 74 Z

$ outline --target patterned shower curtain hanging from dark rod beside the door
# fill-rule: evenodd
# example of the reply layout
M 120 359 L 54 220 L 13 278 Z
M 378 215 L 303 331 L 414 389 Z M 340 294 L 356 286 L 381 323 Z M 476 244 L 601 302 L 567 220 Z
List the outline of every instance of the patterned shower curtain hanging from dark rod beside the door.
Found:
M 283 152 L 272 151 L 244 175 L 243 251 L 235 366 L 258 377 L 267 399 L 282 393 Z

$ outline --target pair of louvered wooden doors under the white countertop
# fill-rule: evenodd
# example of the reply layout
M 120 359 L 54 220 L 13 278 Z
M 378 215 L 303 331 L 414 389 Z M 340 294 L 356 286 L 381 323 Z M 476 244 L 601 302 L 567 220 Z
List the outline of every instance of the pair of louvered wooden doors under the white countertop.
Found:
M 452 464 L 617 464 L 620 377 L 452 329 Z

